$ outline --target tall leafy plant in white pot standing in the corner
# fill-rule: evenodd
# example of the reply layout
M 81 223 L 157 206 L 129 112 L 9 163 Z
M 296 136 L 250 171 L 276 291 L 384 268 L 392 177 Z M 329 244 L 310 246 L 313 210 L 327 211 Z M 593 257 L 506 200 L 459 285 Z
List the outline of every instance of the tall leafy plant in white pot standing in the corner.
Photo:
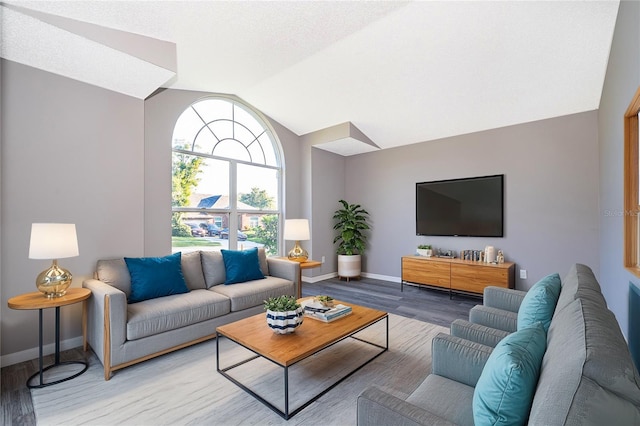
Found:
M 338 277 L 360 277 L 362 272 L 362 253 L 367 242 L 365 232 L 369 229 L 369 212 L 360 204 L 349 204 L 340 200 L 342 208 L 335 211 L 333 218 L 336 220 L 333 229 L 338 235 L 333 243 L 338 243 Z

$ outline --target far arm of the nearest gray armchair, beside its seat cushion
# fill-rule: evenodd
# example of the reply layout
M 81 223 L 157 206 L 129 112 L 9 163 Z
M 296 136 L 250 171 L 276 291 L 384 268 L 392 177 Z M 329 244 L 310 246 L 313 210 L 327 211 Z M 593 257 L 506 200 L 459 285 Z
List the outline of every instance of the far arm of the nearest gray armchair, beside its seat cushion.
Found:
M 431 343 L 431 372 L 475 387 L 493 348 L 438 333 Z

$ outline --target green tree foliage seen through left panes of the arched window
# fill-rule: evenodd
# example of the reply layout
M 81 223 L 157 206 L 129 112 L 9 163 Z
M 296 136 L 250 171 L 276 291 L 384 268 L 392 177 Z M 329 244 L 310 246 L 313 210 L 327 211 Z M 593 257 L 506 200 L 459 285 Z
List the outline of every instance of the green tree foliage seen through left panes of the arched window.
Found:
M 189 205 L 193 188 L 198 186 L 202 173 L 202 158 L 186 154 L 173 153 L 171 176 L 171 205 L 183 207 Z M 182 222 L 182 213 L 174 212 L 171 217 L 171 235 L 174 237 L 190 237 L 191 228 Z

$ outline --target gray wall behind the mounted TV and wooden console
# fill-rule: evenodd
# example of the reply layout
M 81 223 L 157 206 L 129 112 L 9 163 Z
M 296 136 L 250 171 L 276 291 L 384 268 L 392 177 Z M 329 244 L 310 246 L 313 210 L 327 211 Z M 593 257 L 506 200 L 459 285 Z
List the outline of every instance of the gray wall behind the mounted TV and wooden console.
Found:
M 369 275 L 398 279 L 401 256 L 426 243 L 502 249 L 528 271 L 521 289 L 575 262 L 598 273 L 596 112 L 348 157 L 345 170 L 348 201 L 371 214 Z M 416 182 L 493 174 L 505 175 L 504 238 L 415 235 Z

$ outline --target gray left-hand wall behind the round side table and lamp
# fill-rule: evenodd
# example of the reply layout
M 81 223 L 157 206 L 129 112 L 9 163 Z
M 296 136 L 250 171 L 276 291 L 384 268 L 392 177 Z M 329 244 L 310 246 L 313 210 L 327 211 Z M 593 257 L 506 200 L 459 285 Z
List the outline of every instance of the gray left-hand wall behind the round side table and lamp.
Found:
M 144 104 L 10 61 L 1 66 L 1 354 L 32 359 L 38 312 L 7 308 L 9 298 L 36 291 L 36 276 L 51 263 L 28 259 L 31 223 L 76 224 L 80 256 L 60 260 L 73 287 L 99 258 L 143 254 Z M 61 309 L 62 340 L 81 342 L 80 313 L 80 304 Z M 45 311 L 49 325 L 53 314 Z

